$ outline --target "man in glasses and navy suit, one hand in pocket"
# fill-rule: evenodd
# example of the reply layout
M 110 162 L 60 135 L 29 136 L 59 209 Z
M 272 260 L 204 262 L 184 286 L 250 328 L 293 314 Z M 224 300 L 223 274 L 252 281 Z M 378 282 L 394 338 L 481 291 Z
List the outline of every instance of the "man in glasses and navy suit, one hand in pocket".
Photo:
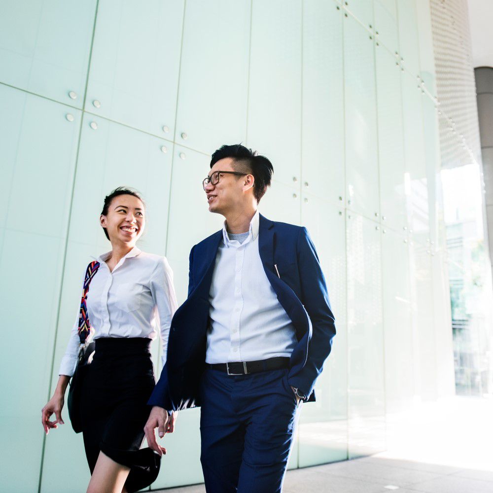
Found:
M 313 388 L 336 330 L 306 228 L 257 211 L 270 161 L 243 145 L 212 154 L 204 180 L 222 231 L 190 252 L 188 298 L 176 311 L 168 359 L 149 404 L 154 428 L 168 412 L 201 406 L 201 462 L 209 493 L 282 490 L 300 401 Z

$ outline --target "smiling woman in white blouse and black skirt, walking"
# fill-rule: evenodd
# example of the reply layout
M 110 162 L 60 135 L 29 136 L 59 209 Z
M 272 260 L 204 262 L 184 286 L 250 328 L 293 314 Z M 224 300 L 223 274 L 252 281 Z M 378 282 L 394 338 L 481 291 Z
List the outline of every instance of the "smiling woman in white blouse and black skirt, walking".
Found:
M 173 273 L 165 257 L 135 245 L 145 227 L 139 194 L 117 188 L 105 198 L 100 217 L 111 251 L 87 293 L 87 314 L 96 344 L 84 376 L 82 434 L 91 480 L 87 492 L 134 492 L 148 486 L 159 470 L 159 456 L 140 450 L 155 385 L 149 346 L 160 328 L 163 366 L 171 319 L 176 311 Z M 60 365 L 53 397 L 42 409 L 45 433 L 62 420 L 65 390 L 77 365 L 78 316 Z M 55 413 L 56 420 L 50 416 Z M 172 416 L 167 431 L 174 429 Z M 165 449 L 161 449 L 166 453 Z

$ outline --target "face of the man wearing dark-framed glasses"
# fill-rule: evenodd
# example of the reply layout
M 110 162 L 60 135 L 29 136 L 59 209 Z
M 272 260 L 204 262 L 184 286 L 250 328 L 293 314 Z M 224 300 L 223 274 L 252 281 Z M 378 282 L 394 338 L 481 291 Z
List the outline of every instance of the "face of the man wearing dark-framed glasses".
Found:
M 233 162 L 230 157 L 220 159 L 212 166 L 209 176 L 216 171 L 236 171 Z M 239 206 L 243 198 L 244 178 L 245 176 L 219 174 L 219 181 L 215 185 L 209 183 L 205 187 L 209 211 L 225 215 Z

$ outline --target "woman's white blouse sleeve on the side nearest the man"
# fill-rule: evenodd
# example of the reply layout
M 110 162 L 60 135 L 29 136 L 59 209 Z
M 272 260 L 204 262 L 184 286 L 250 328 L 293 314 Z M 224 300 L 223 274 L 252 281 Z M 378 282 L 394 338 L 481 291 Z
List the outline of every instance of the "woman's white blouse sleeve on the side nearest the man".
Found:
M 161 356 L 162 367 L 166 363 L 168 351 L 168 337 L 170 335 L 171 320 L 178 308 L 175 286 L 173 284 L 173 271 L 166 257 L 161 257 L 151 277 L 150 289 L 154 305 L 157 308 L 157 322 L 161 334 L 163 353 Z

